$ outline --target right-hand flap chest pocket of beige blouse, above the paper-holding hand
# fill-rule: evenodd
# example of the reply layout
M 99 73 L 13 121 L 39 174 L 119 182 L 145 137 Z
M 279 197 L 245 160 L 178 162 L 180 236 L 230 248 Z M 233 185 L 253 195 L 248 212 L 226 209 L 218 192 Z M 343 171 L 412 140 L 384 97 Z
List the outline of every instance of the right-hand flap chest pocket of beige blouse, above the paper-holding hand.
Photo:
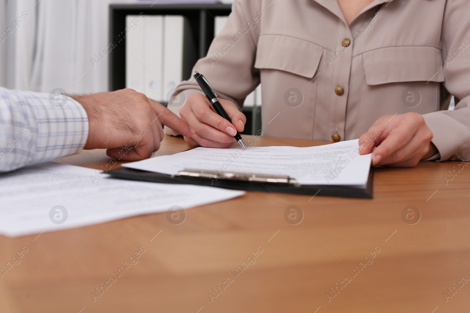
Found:
M 361 104 L 372 105 L 375 117 L 439 110 L 444 81 L 441 51 L 430 46 L 394 46 L 362 54 Z

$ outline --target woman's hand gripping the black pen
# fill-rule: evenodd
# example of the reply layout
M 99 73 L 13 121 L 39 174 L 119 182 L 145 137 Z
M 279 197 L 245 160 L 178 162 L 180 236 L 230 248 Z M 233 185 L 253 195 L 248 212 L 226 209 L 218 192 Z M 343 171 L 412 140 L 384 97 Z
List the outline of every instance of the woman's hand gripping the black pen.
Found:
M 181 107 L 181 119 L 196 130 L 191 136 L 182 134 L 189 145 L 228 148 L 236 142 L 234 136 L 237 131 L 243 131 L 245 128 L 246 117 L 235 103 L 222 99 L 219 99 L 219 102 L 232 119 L 231 123 L 213 111 L 209 100 L 201 94 L 190 95 L 186 104 Z

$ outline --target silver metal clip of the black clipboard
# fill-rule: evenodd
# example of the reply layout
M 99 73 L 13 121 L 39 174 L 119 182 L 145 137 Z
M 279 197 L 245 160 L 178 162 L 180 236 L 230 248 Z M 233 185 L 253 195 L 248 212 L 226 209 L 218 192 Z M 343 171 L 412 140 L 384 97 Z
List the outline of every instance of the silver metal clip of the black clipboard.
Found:
M 297 180 L 290 178 L 289 176 L 283 175 L 252 174 L 238 172 L 224 172 L 218 175 L 215 173 L 214 170 L 185 168 L 182 171 L 179 171 L 178 175 L 176 176 L 203 177 L 209 179 L 227 179 L 258 183 L 286 183 L 294 186 L 300 186 Z

